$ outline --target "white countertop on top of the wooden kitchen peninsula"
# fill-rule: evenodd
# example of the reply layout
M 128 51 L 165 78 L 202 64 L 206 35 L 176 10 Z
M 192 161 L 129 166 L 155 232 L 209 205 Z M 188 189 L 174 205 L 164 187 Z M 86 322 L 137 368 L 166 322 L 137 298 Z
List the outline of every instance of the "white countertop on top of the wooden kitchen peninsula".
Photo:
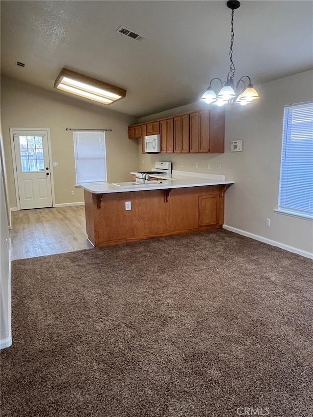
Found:
M 131 173 L 135 175 L 136 173 Z M 89 184 L 81 184 L 82 187 L 93 194 L 106 194 L 106 193 L 125 193 L 131 191 L 147 191 L 158 190 L 167 188 L 185 188 L 185 187 L 201 187 L 204 185 L 224 185 L 233 184 L 234 181 L 225 180 L 224 175 L 210 175 L 183 171 L 173 171 L 170 175 L 151 175 L 154 178 L 159 178 L 160 181 L 164 179 L 166 182 L 158 183 L 149 181 L 148 184 L 139 185 L 123 185 L 118 186 L 113 183 L 107 182 L 94 182 Z M 129 181 L 131 183 L 131 181 Z M 120 183 L 123 184 L 123 183 Z

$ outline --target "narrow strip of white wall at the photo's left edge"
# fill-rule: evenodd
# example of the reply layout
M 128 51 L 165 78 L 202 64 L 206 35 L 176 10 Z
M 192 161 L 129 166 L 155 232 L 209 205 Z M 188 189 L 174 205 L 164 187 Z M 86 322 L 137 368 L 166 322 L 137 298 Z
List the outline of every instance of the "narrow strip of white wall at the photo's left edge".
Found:
M 7 208 L 5 161 L 0 126 L 0 349 L 12 344 L 11 240 Z

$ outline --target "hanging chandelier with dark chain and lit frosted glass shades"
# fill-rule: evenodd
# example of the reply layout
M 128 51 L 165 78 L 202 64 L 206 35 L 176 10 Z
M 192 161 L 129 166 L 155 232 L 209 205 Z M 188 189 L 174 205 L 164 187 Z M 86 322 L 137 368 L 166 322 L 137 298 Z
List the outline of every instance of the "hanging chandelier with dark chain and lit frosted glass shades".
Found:
M 234 84 L 235 76 L 235 65 L 233 62 L 233 44 L 234 44 L 234 11 L 240 7 L 240 2 L 237 0 L 228 0 L 227 7 L 232 10 L 231 12 L 231 36 L 230 36 L 230 48 L 229 48 L 229 58 L 230 58 L 230 70 L 227 74 L 227 81 L 222 81 L 220 78 L 213 78 L 210 81 L 210 85 L 201 97 L 201 101 L 204 101 L 208 104 L 214 104 L 216 106 L 224 106 L 224 104 L 234 104 L 239 103 L 242 106 L 250 103 L 253 100 L 259 98 L 259 94 L 253 88 L 251 84 L 251 79 L 247 75 L 243 75 L 238 83 Z M 212 82 L 218 80 L 221 83 L 221 90 L 218 94 L 213 90 Z

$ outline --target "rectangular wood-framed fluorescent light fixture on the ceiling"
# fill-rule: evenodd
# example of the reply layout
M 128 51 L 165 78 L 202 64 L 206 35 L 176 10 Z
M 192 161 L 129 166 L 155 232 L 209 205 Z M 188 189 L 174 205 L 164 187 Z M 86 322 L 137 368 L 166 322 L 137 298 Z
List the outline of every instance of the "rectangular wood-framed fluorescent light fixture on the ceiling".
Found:
M 54 83 L 54 88 L 109 105 L 126 96 L 126 90 L 104 81 L 63 68 Z

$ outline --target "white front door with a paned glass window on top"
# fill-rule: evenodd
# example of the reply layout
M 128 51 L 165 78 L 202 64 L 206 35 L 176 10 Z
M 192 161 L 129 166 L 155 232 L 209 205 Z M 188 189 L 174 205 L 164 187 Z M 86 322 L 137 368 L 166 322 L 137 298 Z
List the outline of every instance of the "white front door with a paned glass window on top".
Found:
M 46 131 L 13 130 L 20 207 L 52 207 L 50 158 Z

